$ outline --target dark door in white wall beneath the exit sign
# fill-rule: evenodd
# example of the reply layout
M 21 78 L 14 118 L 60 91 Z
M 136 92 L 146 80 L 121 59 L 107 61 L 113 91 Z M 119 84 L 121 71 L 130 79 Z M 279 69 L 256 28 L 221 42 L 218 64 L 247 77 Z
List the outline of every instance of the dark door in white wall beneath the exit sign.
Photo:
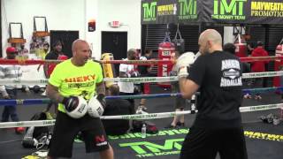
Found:
M 102 32 L 102 53 L 112 53 L 115 60 L 126 58 L 127 33 Z M 115 64 L 115 72 L 119 72 L 119 64 Z M 119 73 L 116 73 L 119 74 Z

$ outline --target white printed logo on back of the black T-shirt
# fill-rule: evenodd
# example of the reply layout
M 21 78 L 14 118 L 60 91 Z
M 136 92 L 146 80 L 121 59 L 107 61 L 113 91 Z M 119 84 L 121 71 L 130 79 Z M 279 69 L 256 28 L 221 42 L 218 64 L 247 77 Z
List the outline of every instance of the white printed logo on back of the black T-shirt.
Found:
M 240 63 L 238 60 L 227 59 L 222 60 L 221 71 L 222 77 L 220 87 L 236 87 L 241 86 Z

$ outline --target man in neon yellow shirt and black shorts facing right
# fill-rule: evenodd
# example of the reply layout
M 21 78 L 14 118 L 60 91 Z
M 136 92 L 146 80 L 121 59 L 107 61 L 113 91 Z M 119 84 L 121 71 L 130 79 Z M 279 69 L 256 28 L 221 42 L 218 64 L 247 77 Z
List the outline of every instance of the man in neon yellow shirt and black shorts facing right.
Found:
M 88 113 L 82 117 L 69 114 L 79 107 L 79 96 L 88 101 L 97 95 L 97 101 L 105 105 L 103 72 L 100 64 L 89 60 L 88 42 L 76 40 L 72 51 L 71 59 L 57 64 L 47 86 L 47 95 L 52 101 L 59 103 L 48 158 L 72 157 L 73 140 L 81 132 L 87 153 L 98 151 L 101 158 L 112 159 L 113 150 L 106 139 L 100 118 L 90 117 Z

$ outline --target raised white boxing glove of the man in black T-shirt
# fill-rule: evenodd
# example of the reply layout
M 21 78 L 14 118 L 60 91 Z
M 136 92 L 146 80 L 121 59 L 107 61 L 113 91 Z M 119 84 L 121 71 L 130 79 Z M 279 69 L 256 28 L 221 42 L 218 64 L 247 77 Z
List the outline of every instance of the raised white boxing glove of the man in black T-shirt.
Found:
M 177 59 L 176 67 L 179 78 L 186 78 L 188 76 L 188 68 L 190 64 L 194 64 L 194 61 L 195 54 L 193 52 L 186 52 Z

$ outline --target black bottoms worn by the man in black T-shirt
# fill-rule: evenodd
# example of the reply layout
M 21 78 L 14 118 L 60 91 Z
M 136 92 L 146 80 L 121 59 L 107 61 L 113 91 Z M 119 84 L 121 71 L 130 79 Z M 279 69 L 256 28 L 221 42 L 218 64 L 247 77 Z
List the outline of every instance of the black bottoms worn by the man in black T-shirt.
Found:
M 247 159 L 247 148 L 241 127 L 208 130 L 192 127 L 187 133 L 180 159 Z

